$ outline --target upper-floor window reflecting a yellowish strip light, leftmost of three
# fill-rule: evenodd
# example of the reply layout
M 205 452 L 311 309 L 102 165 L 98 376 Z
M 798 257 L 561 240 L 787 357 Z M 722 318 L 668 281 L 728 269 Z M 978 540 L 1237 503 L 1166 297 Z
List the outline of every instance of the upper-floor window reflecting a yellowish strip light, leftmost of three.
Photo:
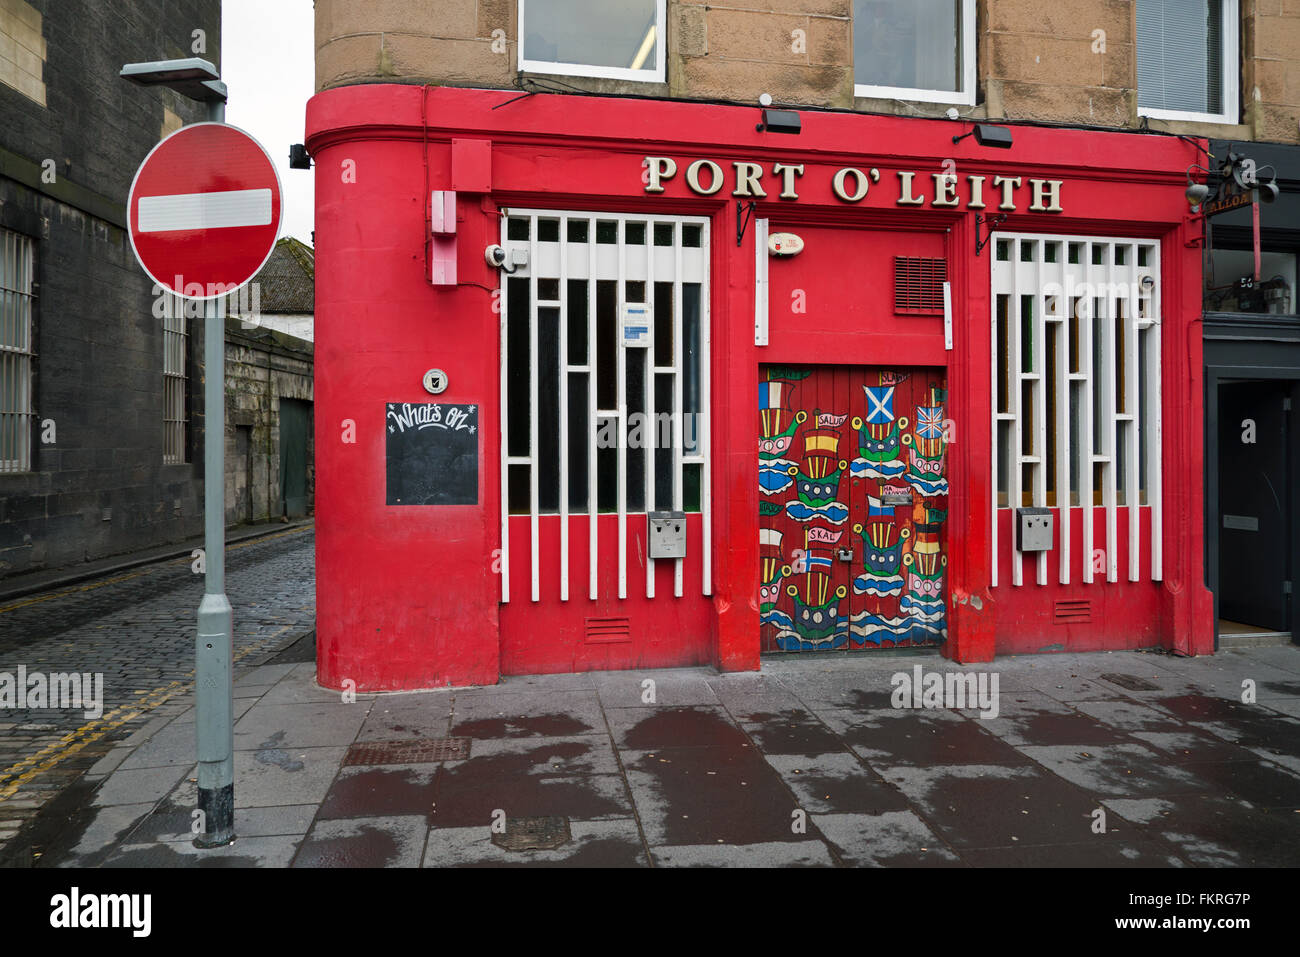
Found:
M 519 69 L 664 79 L 666 0 L 519 0 Z

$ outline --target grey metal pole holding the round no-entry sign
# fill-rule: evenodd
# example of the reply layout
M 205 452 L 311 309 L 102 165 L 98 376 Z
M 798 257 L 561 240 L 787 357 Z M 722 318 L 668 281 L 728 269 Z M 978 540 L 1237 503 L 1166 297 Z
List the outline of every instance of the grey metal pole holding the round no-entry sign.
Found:
M 225 122 L 226 104 L 209 103 L 208 120 Z M 195 846 L 235 839 L 233 622 L 226 598 L 226 324 L 225 299 L 203 308 L 204 594 L 195 637 L 195 728 L 202 832 Z

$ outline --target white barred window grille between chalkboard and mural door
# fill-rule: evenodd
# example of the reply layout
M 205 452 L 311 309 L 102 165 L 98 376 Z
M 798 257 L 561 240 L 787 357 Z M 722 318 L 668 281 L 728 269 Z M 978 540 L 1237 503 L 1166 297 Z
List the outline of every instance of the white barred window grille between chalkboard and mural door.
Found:
M 511 515 L 529 516 L 532 601 L 541 599 L 543 516 L 559 516 L 560 599 L 569 599 L 569 515 L 588 516 L 589 593 L 598 518 L 618 515 L 619 598 L 628 516 L 699 512 L 710 594 L 708 221 L 511 209 L 502 243 L 502 601 Z M 646 321 L 649 320 L 649 321 Z M 642 337 L 641 345 L 624 345 Z M 654 597 L 656 560 L 645 559 Z

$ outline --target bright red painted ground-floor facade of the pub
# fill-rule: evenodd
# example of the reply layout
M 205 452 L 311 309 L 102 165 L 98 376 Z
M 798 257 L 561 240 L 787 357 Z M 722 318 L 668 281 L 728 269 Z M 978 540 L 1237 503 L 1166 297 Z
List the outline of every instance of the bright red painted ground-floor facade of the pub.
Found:
M 894 365 L 946 367 L 948 415 L 963 437 L 949 451 L 949 533 L 961 529 L 963 538 L 949 542 L 949 594 L 956 599 L 949 657 L 978 662 L 1043 648 L 1213 649 L 1201 571 L 1201 360 L 1193 325 L 1200 251 L 1186 244 L 1196 230 L 1183 199 L 1183 170 L 1199 155 L 1193 146 L 1173 137 L 1018 126 L 1011 150 L 983 150 L 974 138 L 953 144 L 954 133 L 966 130 L 962 124 L 819 112 L 803 113 L 803 131 L 790 137 L 755 131 L 757 108 L 550 94 L 500 105 L 515 96 L 374 85 L 330 90 L 308 104 L 317 204 L 317 644 L 324 684 L 343 687 L 351 679 L 370 690 L 484 684 L 524 671 L 701 662 L 723 670 L 758 667 L 759 364 L 872 364 L 885 358 Z M 662 194 L 645 191 L 645 156 L 671 156 L 679 164 Z M 774 231 L 800 233 L 818 250 L 771 261 L 767 347 L 754 346 L 754 228 L 737 246 L 733 178 L 716 195 L 698 196 L 684 177 L 694 159 L 711 159 L 728 172 L 732 161 L 763 164 L 768 195 L 757 216 L 768 217 Z M 928 203 L 930 177 L 944 172 L 946 160 L 959 177 L 958 208 Z M 774 161 L 803 164 L 798 200 L 777 198 Z M 842 166 L 880 174 L 859 203 L 831 191 Z M 916 172 L 926 204 L 897 205 L 898 170 Z M 965 202 L 967 176 L 994 173 L 1063 181 L 1062 213 L 1030 212 L 1026 182 L 1006 230 L 1162 241 L 1162 583 L 988 586 L 991 250 L 975 256 L 975 213 Z M 428 191 L 451 189 L 459 190 L 459 285 L 434 287 L 428 281 Z M 988 208 L 982 212 L 993 212 L 997 199 L 985 182 Z M 515 564 L 528 554 L 526 520 L 512 519 L 512 601 L 499 601 L 499 316 L 493 296 L 499 277 L 482 251 L 499 241 L 503 207 L 711 217 L 712 594 L 699 594 L 698 559 L 688 560 L 690 601 L 662 598 L 671 596 L 671 580 L 659 584 L 660 598 L 645 599 L 644 573 L 633 571 L 641 566 L 629 564 L 629 594 L 642 597 L 629 598 L 624 614 L 645 624 L 632 646 L 582 640 L 584 616 L 610 612 L 586 598 L 581 550 L 571 553 L 576 598 L 528 601 L 526 586 L 519 585 L 528 580 L 528 566 Z M 889 268 L 893 255 L 905 254 L 948 256 L 953 351 L 944 350 L 941 320 L 893 315 Z M 807 313 L 790 312 L 794 289 L 809 293 Z M 421 377 L 430 367 L 448 373 L 450 386 L 438 400 L 480 407 L 477 506 L 385 505 L 385 403 L 429 400 Z M 355 441 L 346 441 L 348 423 Z M 585 519 L 578 521 L 575 538 L 585 540 Z M 644 519 L 633 516 L 628 524 L 633 538 Z M 554 542 L 543 537 L 542 545 L 549 553 Z M 554 594 L 545 568 L 543 594 Z M 1075 596 L 1095 599 L 1095 627 L 1053 625 L 1052 602 Z

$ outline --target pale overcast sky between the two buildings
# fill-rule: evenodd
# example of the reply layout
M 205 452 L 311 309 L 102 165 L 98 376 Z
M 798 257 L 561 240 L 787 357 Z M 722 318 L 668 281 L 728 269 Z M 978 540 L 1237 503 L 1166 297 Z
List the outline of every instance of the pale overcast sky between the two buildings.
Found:
M 315 90 L 312 0 L 224 0 L 221 78 L 230 87 L 226 122 L 270 153 L 285 191 L 282 237 L 312 244 L 313 173 L 289 168 L 290 143 L 303 142 Z

